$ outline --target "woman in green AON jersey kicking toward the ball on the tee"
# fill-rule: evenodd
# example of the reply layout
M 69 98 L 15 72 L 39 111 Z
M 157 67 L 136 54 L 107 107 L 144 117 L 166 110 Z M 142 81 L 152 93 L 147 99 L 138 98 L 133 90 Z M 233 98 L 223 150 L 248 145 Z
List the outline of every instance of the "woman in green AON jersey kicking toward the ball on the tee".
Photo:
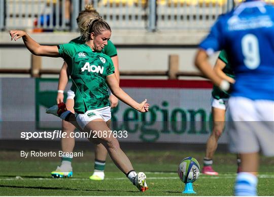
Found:
M 99 135 L 99 131 L 110 131 L 111 108 L 109 102 L 108 87 L 112 93 L 140 111 L 147 112 L 149 104 L 144 100 L 137 103 L 127 95 L 120 87 L 115 76 L 115 68 L 111 58 L 103 53 L 102 49 L 111 37 L 111 27 L 100 17 L 92 18 L 86 22 L 82 45 L 63 44 L 58 46 L 41 46 L 24 31 L 11 30 L 11 40 L 22 37 L 26 48 L 38 56 L 62 57 L 68 66 L 72 82 L 76 86 L 75 112 L 65 108 L 64 103 L 59 103 L 56 113 L 63 120 L 74 119 L 81 130 L 92 134 L 89 138 L 93 143 L 102 143 L 110 154 L 114 164 L 126 175 L 126 177 L 140 191 L 148 189 L 146 175 L 134 171 L 128 157 L 120 148 L 114 133 Z M 93 138 L 95 136 L 96 138 Z

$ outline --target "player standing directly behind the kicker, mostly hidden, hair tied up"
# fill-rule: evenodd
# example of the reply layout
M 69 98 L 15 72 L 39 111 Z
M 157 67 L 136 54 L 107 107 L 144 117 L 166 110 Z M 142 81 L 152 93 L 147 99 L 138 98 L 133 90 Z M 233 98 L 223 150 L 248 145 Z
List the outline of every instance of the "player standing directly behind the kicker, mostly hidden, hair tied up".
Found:
M 99 13 L 93 8 L 91 4 L 87 4 L 85 6 L 85 10 L 81 11 L 78 15 L 77 24 L 80 30 L 81 35 L 85 33 L 85 25 L 89 19 L 98 17 Z M 75 45 L 82 45 L 85 43 L 83 38 L 77 37 L 70 42 L 71 44 Z M 115 75 L 117 77 L 118 83 L 120 81 L 120 74 L 119 74 L 119 63 L 118 63 L 118 56 L 117 50 L 114 44 L 111 41 L 108 41 L 108 45 L 102 49 L 102 53 L 111 57 L 114 67 L 115 67 Z M 64 98 L 64 89 L 68 82 L 68 69 L 66 62 L 63 63 L 63 66 L 60 71 L 59 76 L 59 84 L 58 84 L 58 94 L 57 94 L 57 103 L 63 102 Z M 75 97 L 75 85 L 73 84 L 71 89 L 67 91 L 67 98 L 66 98 L 66 107 L 68 110 L 74 112 L 74 97 Z M 116 107 L 118 105 L 118 99 L 111 94 L 110 97 L 111 107 Z M 111 122 L 109 123 L 111 126 Z M 63 152 L 73 152 L 75 146 L 75 139 L 71 137 L 71 133 L 74 132 L 75 126 L 67 121 L 62 120 L 62 131 L 65 132 L 67 135 L 64 138 L 61 138 L 61 148 Z M 106 165 L 106 157 L 108 151 L 102 144 L 95 144 L 95 161 L 94 161 L 94 173 L 89 178 L 91 180 L 104 180 L 105 178 L 105 165 Z M 58 166 L 57 169 L 51 172 L 51 175 L 55 178 L 63 178 L 73 174 L 72 168 L 72 160 L 73 158 L 70 156 L 63 156 L 61 158 L 61 165 Z

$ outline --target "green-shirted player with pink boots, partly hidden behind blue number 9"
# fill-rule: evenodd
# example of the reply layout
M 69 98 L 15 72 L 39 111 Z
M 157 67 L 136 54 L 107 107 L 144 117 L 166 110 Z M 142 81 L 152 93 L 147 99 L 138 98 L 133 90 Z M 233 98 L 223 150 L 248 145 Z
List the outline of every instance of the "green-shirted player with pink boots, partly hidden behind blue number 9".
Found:
M 215 63 L 214 71 L 223 80 L 228 81 L 231 84 L 235 83 L 234 72 L 231 69 L 231 65 L 227 61 L 227 54 L 222 50 Z M 202 173 L 207 175 L 218 175 L 212 168 L 213 156 L 218 146 L 218 139 L 220 138 L 224 126 L 225 126 L 225 111 L 227 109 L 229 94 L 214 86 L 212 91 L 212 116 L 213 116 L 213 130 L 207 141 L 207 148 L 205 150 L 205 157 L 203 159 Z M 237 158 L 238 170 L 241 160 Z

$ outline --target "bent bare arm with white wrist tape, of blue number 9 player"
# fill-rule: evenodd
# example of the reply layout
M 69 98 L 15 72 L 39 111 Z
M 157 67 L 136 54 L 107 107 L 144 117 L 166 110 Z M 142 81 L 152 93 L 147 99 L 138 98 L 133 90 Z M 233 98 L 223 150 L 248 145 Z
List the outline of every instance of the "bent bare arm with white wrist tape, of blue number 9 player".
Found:
M 206 77 L 208 77 L 220 89 L 225 91 L 229 90 L 229 82 L 227 82 L 226 80 L 222 80 L 222 78 L 218 76 L 216 72 L 214 72 L 209 62 L 208 54 L 204 50 L 198 50 L 195 57 L 195 65 Z

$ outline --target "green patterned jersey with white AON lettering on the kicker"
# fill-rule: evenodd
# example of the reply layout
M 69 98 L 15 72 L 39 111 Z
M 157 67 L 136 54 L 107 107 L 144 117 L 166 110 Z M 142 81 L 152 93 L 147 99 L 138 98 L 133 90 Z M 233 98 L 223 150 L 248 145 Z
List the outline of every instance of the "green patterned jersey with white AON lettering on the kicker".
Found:
M 86 112 L 110 106 L 107 76 L 114 73 L 111 58 L 92 52 L 86 45 L 58 45 L 60 57 L 67 63 L 75 86 L 74 109 Z

